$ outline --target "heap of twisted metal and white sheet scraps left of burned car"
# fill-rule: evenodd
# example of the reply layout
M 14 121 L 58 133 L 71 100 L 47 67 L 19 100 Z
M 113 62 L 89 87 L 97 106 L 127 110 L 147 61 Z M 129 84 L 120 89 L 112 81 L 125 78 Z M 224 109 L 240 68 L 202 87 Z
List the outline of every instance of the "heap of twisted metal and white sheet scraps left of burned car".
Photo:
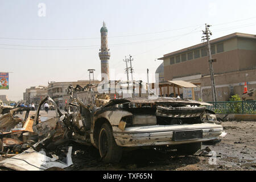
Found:
M 39 111 L 46 101 L 55 106 L 56 117 L 42 122 Z M 24 119 L 15 116 L 19 111 L 26 111 Z M 60 156 L 54 151 L 72 141 L 72 132 L 64 124 L 65 115 L 52 98 L 44 98 L 35 115 L 30 117 L 29 112 L 28 107 L 16 107 L 0 118 L 0 167 L 36 171 L 71 166 L 72 146 L 66 145 L 64 150 L 60 150 Z

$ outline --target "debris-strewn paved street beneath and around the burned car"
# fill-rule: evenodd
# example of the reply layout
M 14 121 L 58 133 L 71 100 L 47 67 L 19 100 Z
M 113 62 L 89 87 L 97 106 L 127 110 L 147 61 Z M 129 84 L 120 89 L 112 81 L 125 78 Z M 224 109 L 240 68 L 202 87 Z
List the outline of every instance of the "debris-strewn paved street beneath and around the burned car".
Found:
M 35 111 L 30 112 L 33 114 Z M 18 116 L 24 117 L 24 113 Z M 42 120 L 55 117 L 55 111 L 40 110 L 40 117 Z M 228 133 L 226 137 L 216 144 L 203 143 L 202 146 L 216 152 L 216 164 L 209 164 L 207 156 L 176 156 L 175 152 L 144 149 L 124 152 L 118 164 L 104 164 L 93 146 L 70 143 L 74 164 L 65 170 L 255 170 L 256 123 L 226 121 L 222 126 Z

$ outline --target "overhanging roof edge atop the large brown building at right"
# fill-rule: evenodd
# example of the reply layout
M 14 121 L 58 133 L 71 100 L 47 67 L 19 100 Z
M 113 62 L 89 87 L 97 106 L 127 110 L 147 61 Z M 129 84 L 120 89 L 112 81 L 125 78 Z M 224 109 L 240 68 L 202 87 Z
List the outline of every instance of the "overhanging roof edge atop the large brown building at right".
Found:
M 231 38 L 235 38 L 235 37 L 256 39 L 256 35 L 254 35 L 254 34 L 243 34 L 243 33 L 236 32 L 236 33 L 233 33 L 233 34 L 222 36 L 222 37 L 217 38 L 217 39 L 210 40 L 210 44 L 218 43 L 218 42 L 228 40 L 228 39 L 231 39 Z M 186 51 L 191 51 L 192 49 L 197 49 L 197 48 L 204 47 L 204 46 L 205 46 L 205 43 L 196 44 L 195 46 L 180 49 L 179 51 L 167 53 L 163 57 L 158 58 L 158 60 L 164 60 L 166 57 L 170 57 L 172 55 L 176 55 L 178 53 L 183 53 L 183 52 L 186 52 Z

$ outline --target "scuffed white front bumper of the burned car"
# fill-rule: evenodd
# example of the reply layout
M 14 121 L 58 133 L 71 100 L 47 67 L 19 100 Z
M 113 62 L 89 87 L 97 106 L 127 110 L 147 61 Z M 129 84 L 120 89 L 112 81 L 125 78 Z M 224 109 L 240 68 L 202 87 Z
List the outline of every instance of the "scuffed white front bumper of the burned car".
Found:
M 174 140 L 174 132 L 202 130 L 202 138 Z M 124 131 L 114 131 L 114 139 L 118 146 L 163 146 L 183 143 L 205 142 L 218 139 L 223 128 L 212 123 L 193 125 L 154 125 L 127 127 Z

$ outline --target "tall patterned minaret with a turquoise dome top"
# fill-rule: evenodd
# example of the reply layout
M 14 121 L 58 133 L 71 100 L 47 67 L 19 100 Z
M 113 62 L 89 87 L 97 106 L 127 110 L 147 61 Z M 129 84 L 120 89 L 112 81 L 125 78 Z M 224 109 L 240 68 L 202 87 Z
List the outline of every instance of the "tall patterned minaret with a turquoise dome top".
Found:
M 105 27 L 105 22 L 103 22 L 103 27 L 101 27 L 101 49 L 98 53 L 101 60 L 101 81 L 106 77 L 109 81 L 109 58 L 110 52 L 108 48 L 108 29 Z M 105 76 L 104 76 L 105 75 Z

